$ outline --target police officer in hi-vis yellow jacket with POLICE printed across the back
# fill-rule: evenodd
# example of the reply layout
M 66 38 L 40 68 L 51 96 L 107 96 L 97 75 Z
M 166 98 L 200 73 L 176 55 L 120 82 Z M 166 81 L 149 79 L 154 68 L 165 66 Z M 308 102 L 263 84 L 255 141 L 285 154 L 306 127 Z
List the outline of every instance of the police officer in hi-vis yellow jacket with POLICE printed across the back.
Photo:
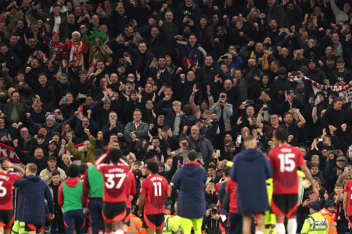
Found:
M 301 233 L 312 232 L 314 234 L 328 234 L 329 223 L 328 221 L 319 213 L 320 205 L 318 203 L 313 203 L 307 206 L 309 208 L 309 218 L 304 221 Z

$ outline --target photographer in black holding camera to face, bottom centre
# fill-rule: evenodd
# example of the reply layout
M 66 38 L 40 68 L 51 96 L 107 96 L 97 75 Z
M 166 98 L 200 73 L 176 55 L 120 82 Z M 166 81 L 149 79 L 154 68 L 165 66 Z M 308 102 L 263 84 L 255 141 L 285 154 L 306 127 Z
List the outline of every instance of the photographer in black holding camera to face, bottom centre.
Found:
M 220 230 L 219 225 L 219 207 L 215 204 L 208 205 L 207 215 L 203 217 L 202 230 L 208 234 L 218 234 Z

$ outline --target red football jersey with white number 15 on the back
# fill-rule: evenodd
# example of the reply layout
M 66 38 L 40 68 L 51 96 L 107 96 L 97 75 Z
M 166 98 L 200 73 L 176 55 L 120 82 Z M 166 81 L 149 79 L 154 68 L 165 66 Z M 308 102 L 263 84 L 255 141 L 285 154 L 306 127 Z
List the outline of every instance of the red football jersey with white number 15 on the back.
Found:
M 298 194 L 297 168 L 306 165 L 301 151 L 290 145 L 282 145 L 271 149 L 268 156 L 274 169 L 272 194 Z

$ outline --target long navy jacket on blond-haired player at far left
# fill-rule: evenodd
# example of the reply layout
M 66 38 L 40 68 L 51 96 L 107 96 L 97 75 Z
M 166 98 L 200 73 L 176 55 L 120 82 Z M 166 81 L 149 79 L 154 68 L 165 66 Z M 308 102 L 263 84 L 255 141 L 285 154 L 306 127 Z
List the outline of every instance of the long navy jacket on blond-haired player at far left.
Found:
M 50 214 L 54 212 L 54 200 L 48 184 L 38 175 L 16 180 L 13 186 L 20 188 L 16 220 L 33 225 L 45 222 L 45 201 L 48 201 Z

